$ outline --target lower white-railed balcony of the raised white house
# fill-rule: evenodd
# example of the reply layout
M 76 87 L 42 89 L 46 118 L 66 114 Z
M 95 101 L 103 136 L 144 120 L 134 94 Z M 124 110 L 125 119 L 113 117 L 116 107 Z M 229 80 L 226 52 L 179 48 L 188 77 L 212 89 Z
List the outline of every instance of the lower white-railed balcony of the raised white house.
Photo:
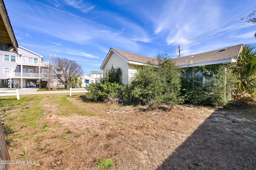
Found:
M 12 73 L 7 73 L 7 78 L 48 79 L 48 74 L 12 72 Z

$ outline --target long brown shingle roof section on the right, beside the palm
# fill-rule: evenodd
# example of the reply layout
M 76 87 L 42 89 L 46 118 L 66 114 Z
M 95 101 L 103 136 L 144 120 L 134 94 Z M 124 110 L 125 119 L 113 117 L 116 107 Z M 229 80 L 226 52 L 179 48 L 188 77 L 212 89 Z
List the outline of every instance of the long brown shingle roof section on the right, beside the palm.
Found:
M 199 53 L 194 55 L 189 55 L 185 57 L 173 58 L 176 66 L 191 64 L 191 57 L 193 57 L 193 63 L 203 63 L 208 61 L 216 61 L 222 59 L 234 58 L 236 59 L 242 50 L 243 44 L 234 45 L 232 47 L 226 47 L 224 49 L 217 49 L 214 51 L 209 51 L 205 53 Z

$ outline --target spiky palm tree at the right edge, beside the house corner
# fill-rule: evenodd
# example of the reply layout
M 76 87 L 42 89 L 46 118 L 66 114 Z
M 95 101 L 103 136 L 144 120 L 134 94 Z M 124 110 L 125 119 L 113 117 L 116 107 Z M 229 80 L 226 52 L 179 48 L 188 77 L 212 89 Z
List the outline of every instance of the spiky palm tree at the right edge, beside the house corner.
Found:
M 230 65 L 229 70 L 236 79 L 234 95 L 242 97 L 244 93 L 252 93 L 256 85 L 256 51 L 254 45 L 245 44 L 237 62 Z

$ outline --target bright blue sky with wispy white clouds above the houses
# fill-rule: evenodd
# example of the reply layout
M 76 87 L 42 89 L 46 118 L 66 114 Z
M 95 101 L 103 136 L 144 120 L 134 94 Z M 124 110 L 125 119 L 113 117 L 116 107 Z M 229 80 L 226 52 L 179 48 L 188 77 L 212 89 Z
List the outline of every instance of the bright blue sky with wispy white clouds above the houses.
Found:
M 255 0 L 4 0 L 18 45 L 99 71 L 110 47 L 156 57 L 256 43 Z M 241 20 L 244 18 L 244 20 Z M 256 18 L 256 15 L 252 16 Z M 194 41 L 192 41 L 194 40 Z M 82 62 L 80 62 L 82 61 Z

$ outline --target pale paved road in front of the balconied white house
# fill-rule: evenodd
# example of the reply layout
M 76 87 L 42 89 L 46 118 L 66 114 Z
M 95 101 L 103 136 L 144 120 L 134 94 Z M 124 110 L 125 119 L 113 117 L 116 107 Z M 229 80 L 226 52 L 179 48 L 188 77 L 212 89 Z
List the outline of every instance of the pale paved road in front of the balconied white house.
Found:
M 32 95 L 32 94 L 54 94 L 54 93 L 68 93 L 69 90 L 62 91 L 37 91 L 39 88 L 31 87 L 31 88 L 22 88 L 19 89 L 20 95 Z M 0 88 L 0 90 L 7 90 L 6 88 Z

